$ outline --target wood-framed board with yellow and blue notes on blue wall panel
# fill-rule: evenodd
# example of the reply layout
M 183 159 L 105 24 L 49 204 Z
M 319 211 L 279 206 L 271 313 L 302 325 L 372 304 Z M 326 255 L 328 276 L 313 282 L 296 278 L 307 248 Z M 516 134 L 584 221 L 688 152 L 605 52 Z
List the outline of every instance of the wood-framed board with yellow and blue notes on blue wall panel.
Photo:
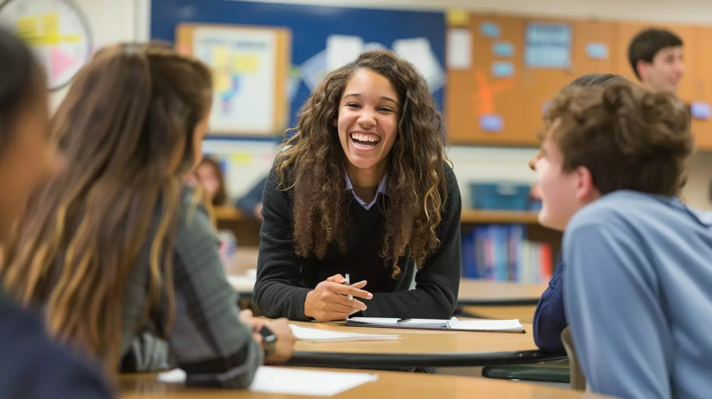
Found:
M 213 135 L 277 135 L 288 124 L 290 32 L 219 24 L 179 24 L 176 46 L 213 70 Z

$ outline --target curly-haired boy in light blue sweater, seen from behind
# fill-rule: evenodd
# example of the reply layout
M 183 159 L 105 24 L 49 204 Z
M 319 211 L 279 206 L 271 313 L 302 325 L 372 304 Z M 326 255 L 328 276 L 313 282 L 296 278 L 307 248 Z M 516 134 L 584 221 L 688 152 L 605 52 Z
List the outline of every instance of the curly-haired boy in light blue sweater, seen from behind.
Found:
M 706 398 L 712 218 L 679 202 L 689 110 L 630 83 L 560 94 L 545 116 L 539 221 L 565 229 L 566 316 L 590 388 Z

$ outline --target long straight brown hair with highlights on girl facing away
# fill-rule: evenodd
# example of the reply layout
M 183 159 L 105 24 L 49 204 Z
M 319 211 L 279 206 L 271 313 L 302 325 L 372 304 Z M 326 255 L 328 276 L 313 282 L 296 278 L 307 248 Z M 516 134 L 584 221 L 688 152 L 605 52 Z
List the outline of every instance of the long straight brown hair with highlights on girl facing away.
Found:
M 70 162 L 28 202 L 0 276 L 48 330 L 119 364 L 131 269 L 150 248 L 144 317 L 165 300 L 173 319 L 172 254 L 181 177 L 192 170 L 211 72 L 154 44 L 103 48 L 75 77 L 53 120 Z M 184 146 L 183 146 L 184 144 Z M 183 149 L 178 167 L 174 155 Z

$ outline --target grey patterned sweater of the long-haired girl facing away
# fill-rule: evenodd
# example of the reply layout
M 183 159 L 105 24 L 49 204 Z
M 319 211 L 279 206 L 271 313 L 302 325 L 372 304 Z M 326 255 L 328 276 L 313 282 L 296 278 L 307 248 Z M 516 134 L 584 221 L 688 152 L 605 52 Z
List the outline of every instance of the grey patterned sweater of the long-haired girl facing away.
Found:
M 174 250 L 174 327 L 167 343 L 155 338 L 153 332 L 164 326 L 166 306 L 139 325 L 147 301 L 149 234 L 127 288 L 122 353 L 137 371 L 150 371 L 168 366 L 168 352 L 171 366 L 186 371 L 190 385 L 246 388 L 263 361 L 263 351 L 251 328 L 239 319 L 236 294 L 226 279 L 207 212 L 192 204 L 191 190 L 182 196 Z

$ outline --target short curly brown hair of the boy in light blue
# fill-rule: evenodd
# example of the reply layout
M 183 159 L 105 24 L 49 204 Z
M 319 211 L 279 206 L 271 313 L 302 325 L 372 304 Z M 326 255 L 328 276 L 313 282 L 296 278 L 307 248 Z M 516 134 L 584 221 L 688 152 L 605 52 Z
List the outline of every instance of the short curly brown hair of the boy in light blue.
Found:
M 562 170 L 584 166 L 604 195 L 635 190 L 677 195 L 693 152 L 689 108 L 672 93 L 630 82 L 560 93 L 543 139 L 562 153 Z

